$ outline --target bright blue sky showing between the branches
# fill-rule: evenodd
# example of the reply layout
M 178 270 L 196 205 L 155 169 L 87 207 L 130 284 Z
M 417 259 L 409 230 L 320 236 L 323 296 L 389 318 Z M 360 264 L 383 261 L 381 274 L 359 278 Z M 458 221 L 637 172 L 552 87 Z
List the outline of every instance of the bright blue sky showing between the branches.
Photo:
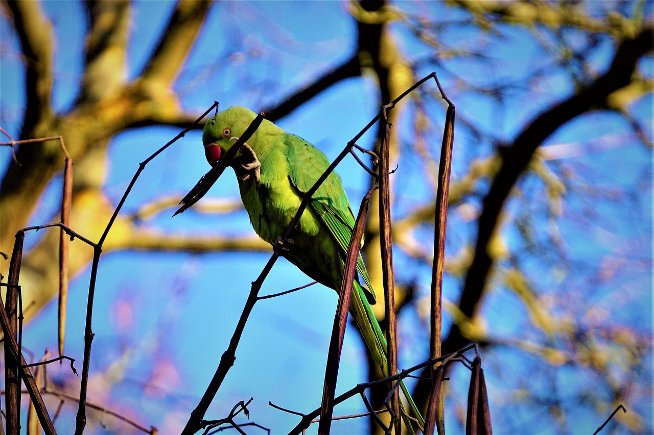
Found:
M 171 5 L 165 2 L 134 2 L 135 13 L 131 23 L 126 71 L 129 79 L 139 74 L 146 54 L 156 45 L 158 31 L 167 21 Z M 464 18 L 460 12 L 444 9 L 439 4 L 401 5 L 415 8 L 417 12 L 432 17 L 451 13 L 448 16 L 451 20 Z M 82 72 L 83 45 L 80 41 L 83 40 L 86 26 L 84 12 L 81 4 L 69 1 L 48 1 L 43 6 L 54 24 L 57 39 L 54 107 L 65 112 L 77 95 Z M 258 111 L 278 103 L 301 84 L 347 59 L 354 48 L 356 26 L 347 14 L 345 5 L 336 2 L 303 3 L 301 17 L 292 13 L 298 7 L 291 2 L 216 4 L 211 9 L 207 24 L 175 86 L 181 92 L 182 106 L 188 112 L 199 114 L 216 99 L 220 101 L 221 108 L 244 105 Z M 328 25 L 317 26 L 316 23 Z M 17 57 L 20 48 L 7 20 L 3 19 L 1 25 L 3 57 L 0 63 L 0 119 L 1 125 L 14 137 L 18 137 L 21 122 L 18 114 L 24 99 L 22 65 Z M 395 24 L 394 27 L 400 48 L 407 57 L 419 59 L 430 53 L 430 48 L 419 43 L 402 24 Z M 543 53 L 542 48 L 530 38 L 528 31 L 508 25 L 501 26 L 500 29 L 505 37 L 503 44 L 491 44 L 489 35 L 479 35 L 478 32 L 466 29 L 452 32 L 451 37 L 447 37 L 446 33 L 445 40 L 458 48 L 486 46 L 492 63 L 489 67 L 470 57 L 452 59 L 445 63 L 447 71 L 436 71 L 449 97 L 456 103 L 459 120 L 473 120 L 490 138 L 510 140 L 525 121 L 545 106 L 568 95 L 572 86 L 565 80 L 564 71 L 552 67 L 551 57 Z M 611 50 L 608 41 L 596 50 L 593 60 L 600 71 L 606 67 Z M 523 82 L 539 69 L 544 72 L 533 79 L 538 85 L 534 86 L 538 93 L 533 93 L 525 89 Z M 420 73 L 430 71 L 434 71 L 433 65 L 425 66 Z M 642 65 L 642 71 L 651 77 L 651 59 Z M 466 80 L 477 86 L 506 82 L 521 85 L 508 94 L 506 104 L 500 105 L 490 98 L 468 91 L 460 86 L 458 80 Z M 346 80 L 279 121 L 279 125 L 316 144 L 328 157 L 333 158 L 347 140 L 374 116 L 377 110 L 376 99 L 375 82 L 370 77 Z M 434 125 L 441 126 L 444 120 L 443 106 L 438 102 L 430 102 L 428 106 L 431 121 Z M 651 107 L 652 99 L 649 95 L 631 106 L 630 111 L 636 118 L 647 120 L 651 119 Z M 453 163 L 455 180 L 465 174 L 470 161 L 488 156 L 493 150 L 489 137 L 478 140 L 464 127 L 464 123 L 458 125 L 461 127 L 457 127 L 456 131 Z M 404 142 L 411 142 L 412 139 L 409 126 L 408 121 L 400 121 L 397 126 Z M 105 182 L 105 192 L 109 198 L 117 201 L 138 163 L 177 132 L 177 129 L 171 127 L 146 127 L 117 135 L 109 148 L 110 163 Z M 647 133 L 651 138 L 651 130 Z M 438 129 L 430 133 L 432 144 L 429 150 L 433 155 L 438 155 L 438 135 Z M 360 144 L 370 147 L 372 139 L 371 135 L 367 135 Z M 162 195 L 183 195 L 188 191 L 209 169 L 200 144 L 200 133 L 189 133 L 152 161 L 139 178 L 123 213 L 134 212 Z M 628 201 L 611 197 L 613 190 L 634 190 L 632 186 L 651 178 L 651 151 L 638 143 L 627 123 L 617 114 L 585 115 L 559 129 L 547 140 L 545 146 L 561 144 L 579 144 L 568 148 L 581 149 L 582 152 L 580 155 L 555 159 L 551 163 L 553 170 L 559 175 L 564 170 L 575 170 L 585 177 L 583 180 L 573 178 L 566 185 L 570 194 L 564 198 L 563 214 L 557 222 L 566 253 L 572 260 L 589 265 L 598 265 L 610 258 L 611 254 L 629 261 L 642 259 L 651 265 L 651 183 L 643 185 L 636 197 Z M 595 148 L 593 144 L 599 145 Z M 3 153 L 0 155 L 2 164 L 7 165 L 9 151 L 2 149 L 0 152 Z M 396 176 L 398 180 L 406 182 L 408 187 L 397 182 L 398 205 L 395 211 L 399 216 L 407 213 L 412 204 L 430 199 L 430 189 L 424 185 L 424 180 L 415 176 L 419 173 L 420 164 L 415 156 L 403 155 L 400 159 Z M 362 187 L 366 174 L 353 159 L 345 161 L 338 170 L 341 175 L 347 174 L 343 176 L 343 184 L 353 208 L 356 208 L 360 195 L 366 190 Z M 643 174 L 649 174 L 650 177 Z M 538 197 L 543 193 L 540 179 L 534 176 L 530 182 L 530 192 L 536 196 L 521 202 L 509 202 L 507 210 L 510 216 L 519 216 L 525 208 L 538 210 L 547 204 L 542 197 Z M 52 182 L 31 223 L 44 223 L 54 214 L 59 185 L 58 179 Z M 594 191 L 584 190 L 589 185 L 593 186 Z M 483 183 L 479 190 L 483 193 Z M 598 199 L 592 195 L 597 195 Z M 237 184 L 231 172 L 228 171 L 218 180 L 207 197 L 238 199 Z M 480 197 L 472 195 L 467 201 L 478 208 Z M 590 209 L 603 217 L 600 225 L 586 225 L 583 222 Z M 216 217 L 203 216 L 190 210 L 175 218 L 170 215 L 169 210 L 166 210 L 143 225 L 173 234 L 253 233 L 244 212 Z M 551 234 L 550 224 L 542 221 L 540 236 Z M 449 233 L 451 236 L 449 235 L 447 251 L 454 255 L 462 244 L 473 238 L 474 221 L 466 221 L 453 211 L 449 228 L 453 231 Z M 421 241 L 426 246 L 431 243 L 430 231 L 424 229 L 424 234 L 420 233 L 425 235 L 426 242 Z M 31 246 L 38 236 L 29 234 L 27 246 Z M 525 250 L 524 242 L 515 227 L 505 228 L 504 236 L 511 248 Z M 192 255 L 135 251 L 103 255 L 96 290 L 96 336 L 91 369 L 92 374 L 111 376 L 92 379 L 95 387 L 91 389 L 90 400 L 108 402 L 117 410 L 128 415 L 134 414 L 146 427 L 155 425 L 162 433 L 179 430 L 179 425 L 184 424 L 188 412 L 196 406 L 213 375 L 247 297 L 250 282 L 256 278 L 268 256 L 266 253 Z M 398 261 L 403 261 L 401 253 L 397 257 Z M 545 294 L 556 293 L 563 285 L 574 287 L 570 284 L 574 280 L 579 280 L 579 285 L 588 285 L 592 281 L 587 276 L 579 278 L 570 271 L 566 272 L 564 282 L 557 281 L 558 275 L 552 273 L 556 265 L 533 258 L 530 261 L 532 274 L 543 277 L 539 288 Z M 400 263 L 396 266 L 396 273 L 400 280 L 418 280 L 419 296 L 428 294 L 428 266 Z M 579 303 L 583 306 L 604 306 L 613 321 L 628 327 L 651 324 L 651 268 L 648 270 L 639 263 L 632 269 L 623 268 L 619 273 L 623 276 L 622 285 L 617 286 L 615 280 L 600 283 L 592 292 L 580 292 L 589 299 Z M 307 282 L 309 279 L 294 266 L 280 260 L 262 291 L 275 293 Z M 459 289 L 460 279 L 447 277 L 444 297 L 456 302 Z M 81 368 L 87 291 L 88 270 L 73 282 L 69 299 L 67 353 L 76 355 L 78 370 Z M 618 307 L 616 304 L 621 305 Z M 269 400 L 284 408 L 305 412 L 319 406 L 322 373 L 335 307 L 336 293 L 320 285 L 258 302 L 239 345 L 237 361 L 209 408 L 211 417 L 225 415 L 233 404 L 252 396 L 254 401 L 249 406 L 250 419 L 273 428 L 273 432 L 279 432 L 290 430 L 298 419 L 273 410 L 267 405 Z M 37 356 L 45 347 L 56 349 L 56 311 L 56 303 L 50 304 L 26 328 L 24 342 Z M 521 332 L 530 326 L 524 306 L 502 286 L 488 295 L 482 315 L 494 336 L 521 336 Z M 401 325 L 407 325 L 400 330 L 406 343 L 402 349 L 401 365 L 411 366 L 426 356 L 428 349 L 422 343 L 427 332 L 415 312 L 405 313 L 400 322 Z M 444 330 L 447 330 L 451 322 L 449 316 L 445 322 Z M 523 338 L 539 339 L 538 334 Z M 366 380 L 361 346 L 355 334 L 347 334 L 337 393 Z M 513 360 L 515 373 L 527 377 L 532 370 L 530 364 L 536 364 L 534 357 L 515 351 L 502 352 L 501 349 L 490 353 L 485 359 L 490 366 L 495 367 L 507 360 Z M 452 389 L 464 391 L 467 388 L 466 374 L 461 370 L 457 373 L 460 376 L 453 376 Z M 69 374 L 64 374 L 58 367 L 53 367 L 50 374 L 55 379 L 69 379 Z M 165 391 L 150 389 L 144 394 L 143 384 L 148 379 L 160 379 L 158 376 L 163 381 L 156 385 Z M 561 371 L 559 376 L 560 382 L 565 385 L 577 374 Z M 111 379 L 109 384 L 106 384 L 107 379 Z M 513 394 L 513 390 L 504 386 L 507 382 L 506 373 L 503 374 L 502 370 L 487 370 L 487 381 L 491 410 L 494 407 L 497 407 L 496 410 L 506 409 L 504 400 Z M 103 391 L 107 393 L 107 388 L 103 389 L 103 385 L 111 386 L 108 396 L 103 396 Z M 511 387 L 515 385 L 511 384 Z M 453 402 L 460 405 L 458 399 Z M 642 408 L 639 411 L 644 413 L 644 417 L 651 419 L 649 406 L 640 406 Z M 360 400 L 349 400 L 337 408 L 336 414 L 345 415 L 363 410 Z M 504 413 L 499 415 L 497 421 L 500 432 L 503 427 L 513 427 L 511 425 L 515 421 L 524 419 L 528 422 L 534 419 L 528 409 L 515 410 L 511 416 Z M 587 432 L 598 426 L 595 413 L 588 409 L 577 411 L 578 417 L 570 415 L 571 419 L 576 418 L 575 428 L 583 428 Z M 71 418 L 74 413 L 71 411 L 69 414 L 58 423 L 61 433 L 70 432 L 69 428 L 74 425 L 74 418 Z M 449 422 L 455 432 L 460 429 L 455 418 Z M 335 423 L 333 430 L 362 432 L 367 425 L 366 420 L 357 419 Z M 543 420 L 542 426 L 534 427 L 534 432 L 546 432 L 548 425 L 548 421 Z M 651 429 L 651 424 L 649 428 Z M 317 427 L 314 426 L 311 430 L 315 432 Z M 107 431 L 111 432 L 111 428 Z

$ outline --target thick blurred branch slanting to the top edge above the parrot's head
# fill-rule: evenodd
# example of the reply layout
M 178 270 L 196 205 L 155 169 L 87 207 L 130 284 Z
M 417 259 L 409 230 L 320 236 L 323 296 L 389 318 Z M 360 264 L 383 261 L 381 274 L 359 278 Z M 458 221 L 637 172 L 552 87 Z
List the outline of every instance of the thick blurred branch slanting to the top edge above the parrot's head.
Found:
M 170 86 L 198 37 L 211 1 L 180 0 L 146 63 L 140 80 Z

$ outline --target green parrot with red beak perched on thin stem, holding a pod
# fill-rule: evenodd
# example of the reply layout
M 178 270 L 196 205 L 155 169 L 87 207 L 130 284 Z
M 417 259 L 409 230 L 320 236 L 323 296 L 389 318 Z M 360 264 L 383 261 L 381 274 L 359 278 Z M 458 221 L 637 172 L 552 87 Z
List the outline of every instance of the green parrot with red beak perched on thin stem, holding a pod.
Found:
M 217 165 L 255 117 L 249 109 L 233 106 L 207 121 L 202 142 L 212 166 Z M 330 161 L 315 146 L 263 120 L 232 161 L 241 199 L 254 231 L 273 246 L 283 242 L 281 237 L 300 207 L 303 194 L 329 165 Z M 213 182 L 215 178 L 210 181 Z M 208 187 L 204 189 L 207 190 Z M 179 211 L 198 199 L 197 195 L 189 193 L 182 199 Z M 353 228 L 354 215 L 341 179 L 332 172 L 313 195 L 290 243 L 284 243 L 283 255 L 313 280 L 339 291 Z M 384 376 L 388 376 L 386 340 L 370 308 L 370 304 L 375 304 L 375 293 L 360 253 L 356 270 L 365 285 L 359 278 L 354 280 L 350 313 L 373 359 Z M 414 416 L 424 425 L 404 383 L 401 387 Z

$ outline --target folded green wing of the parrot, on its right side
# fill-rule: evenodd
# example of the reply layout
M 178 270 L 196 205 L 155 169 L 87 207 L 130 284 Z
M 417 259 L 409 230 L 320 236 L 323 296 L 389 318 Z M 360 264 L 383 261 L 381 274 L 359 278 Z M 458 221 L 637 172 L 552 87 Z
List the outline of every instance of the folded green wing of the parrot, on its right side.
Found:
M 285 138 L 288 161 L 290 163 L 289 178 L 292 185 L 301 193 L 306 193 L 329 167 L 327 157 L 315 146 L 296 135 L 288 134 Z M 354 229 L 354 214 L 347 202 L 341 179 L 332 172 L 313 194 L 311 208 L 320 216 L 324 225 L 336 238 L 343 254 L 347 252 Z M 356 259 L 356 270 L 366 282 L 364 288 L 366 299 L 370 304 L 376 302 L 375 293 L 370 283 L 370 276 L 361 254 Z

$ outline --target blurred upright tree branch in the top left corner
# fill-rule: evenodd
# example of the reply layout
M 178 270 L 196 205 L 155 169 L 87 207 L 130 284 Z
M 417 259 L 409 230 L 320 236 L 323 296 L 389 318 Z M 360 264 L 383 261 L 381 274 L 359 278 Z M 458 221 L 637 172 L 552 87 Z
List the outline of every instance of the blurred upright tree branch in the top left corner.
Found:
M 7 1 L 26 60 L 23 132 L 52 118 L 52 24 L 38 1 Z M 21 137 L 23 135 L 21 134 Z

